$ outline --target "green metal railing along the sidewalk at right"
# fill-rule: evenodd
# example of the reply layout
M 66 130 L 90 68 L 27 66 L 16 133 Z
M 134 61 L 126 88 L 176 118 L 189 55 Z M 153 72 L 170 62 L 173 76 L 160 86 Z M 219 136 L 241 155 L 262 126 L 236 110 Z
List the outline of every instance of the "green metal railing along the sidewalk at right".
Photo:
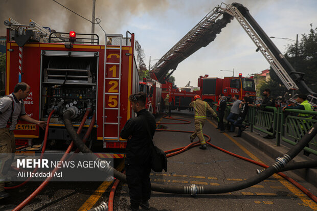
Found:
M 217 106 L 213 104 L 212 108 L 216 111 Z M 230 113 L 230 108 L 231 106 L 227 106 L 225 109 L 224 123 L 227 122 L 226 119 Z M 312 119 L 298 116 L 298 114 L 307 114 Z M 250 107 L 243 124 L 249 126 L 250 132 L 256 129 L 265 134 L 276 136 L 277 146 L 280 146 L 281 140 L 288 144 L 296 145 L 298 140 L 309 131 L 315 122 L 317 122 L 317 111 L 298 109 L 285 109 L 283 111 L 282 108 L 276 107 L 265 107 L 264 109 Z M 316 150 L 309 146 L 316 148 Z M 317 155 L 317 137 L 314 137 L 304 150 Z

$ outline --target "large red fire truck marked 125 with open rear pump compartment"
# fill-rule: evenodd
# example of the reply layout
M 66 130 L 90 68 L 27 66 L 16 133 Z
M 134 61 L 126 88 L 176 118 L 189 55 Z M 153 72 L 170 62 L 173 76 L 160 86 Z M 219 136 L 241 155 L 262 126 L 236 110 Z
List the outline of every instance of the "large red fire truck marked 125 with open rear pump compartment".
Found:
M 106 34 L 106 45 L 101 45 L 96 34 L 50 33 L 50 29 L 32 20 L 29 25 L 20 25 L 9 19 L 5 25 L 8 26 L 6 94 L 20 81 L 29 84 L 31 93 L 25 100 L 25 108 L 37 120 L 47 121 L 53 107 L 58 107 L 48 125 L 48 147 L 66 147 L 71 141 L 62 119 L 65 109 L 75 108 L 73 124 L 78 127 L 90 105 L 96 113 L 96 124 L 89 147 L 95 151 L 119 152 L 109 156 L 123 157 L 120 152 L 126 147 L 126 140 L 120 138 L 120 130 L 134 116 L 128 97 L 139 88 L 134 33 L 130 33 L 131 37 Z M 92 115 L 85 122 L 83 134 Z M 15 137 L 20 145 L 34 146 L 42 143 L 43 131 L 34 124 L 19 122 Z

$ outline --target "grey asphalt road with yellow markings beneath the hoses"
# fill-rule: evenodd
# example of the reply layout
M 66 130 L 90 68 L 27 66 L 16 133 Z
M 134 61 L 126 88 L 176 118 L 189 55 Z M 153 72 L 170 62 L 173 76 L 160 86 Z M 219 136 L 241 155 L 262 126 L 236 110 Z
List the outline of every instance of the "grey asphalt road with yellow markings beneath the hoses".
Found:
M 193 121 L 193 113 L 173 111 L 173 118 Z M 161 122 L 177 122 L 157 118 Z M 193 122 L 186 125 L 167 125 L 165 129 L 194 129 Z M 208 120 L 203 132 L 211 137 L 211 143 L 238 155 L 262 161 L 266 165 L 274 162 L 263 152 L 245 142 L 234 138 L 233 133 L 219 133 L 215 122 Z M 190 144 L 190 133 L 156 132 L 154 142 L 163 150 L 170 150 Z M 196 139 L 197 140 L 197 139 Z M 119 162 L 118 162 L 119 163 Z M 122 166 L 121 166 L 122 167 Z M 171 185 L 206 185 L 221 186 L 235 183 L 256 175 L 261 169 L 208 146 L 207 150 L 198 147 L 168 158 L 168 172 L 151 173 L 155 183 Z M 287 172 L 291 178 L 302 184 L 313 194 L 317 189 L 297 175 Z M 24 187 L 8 191 L 12 197 L 0 201 L 0 210 L 11 210 L 28 195 L 40 182 L 30 182 Z M 45 189 L 22 210 L 87 210 L 108 202 L 111 182 L 51 182 Z M 151 210 L 311 210 L 317 204 L 299 191 L 295 186 L 278 175 L 273 175 L 257 185 L 231 193 L 198 195 L 176 195 L 152 192 Z M 114 210 L 129 210 L 128 187 L 120 183 L 116 195 Z

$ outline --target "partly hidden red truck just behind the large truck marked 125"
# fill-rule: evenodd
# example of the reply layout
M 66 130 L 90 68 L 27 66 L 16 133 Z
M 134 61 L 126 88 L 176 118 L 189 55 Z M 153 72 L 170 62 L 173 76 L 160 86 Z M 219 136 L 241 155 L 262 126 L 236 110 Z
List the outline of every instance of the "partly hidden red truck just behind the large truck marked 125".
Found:
M 139 91 L 146 93 L 146 109 L 157 115 L 161 110 L 161 95 L 162 87 L 161 83 L 153 79 L 144 78 L 139 82 Z

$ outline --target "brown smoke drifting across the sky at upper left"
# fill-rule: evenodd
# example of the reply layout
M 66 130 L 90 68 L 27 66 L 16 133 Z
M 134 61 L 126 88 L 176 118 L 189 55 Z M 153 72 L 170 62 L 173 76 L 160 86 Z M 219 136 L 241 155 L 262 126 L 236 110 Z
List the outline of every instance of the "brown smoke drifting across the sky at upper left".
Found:
M 92 19 L 92 0 L 56 0 L 83 17 Z M 101 19 L 101 26 L 107 33 L 122 33 L 122 25 L 128 22 L 129 16 L 153 11 L 162 11 L 168 7 L 167 0 L 96 0 L 96 15 Z M 4 20 L 12 18 L 20 24 L 28 24 L 29 19 L 41 26 L 47 26 L 59 32 L 76 31 L 90 33 L 92 25 L 87 20 L 77 16 L 52 0 L 0 0 L 0 36 L 6 34 Z M 95 33 L 103 37 L 98 25 Z

